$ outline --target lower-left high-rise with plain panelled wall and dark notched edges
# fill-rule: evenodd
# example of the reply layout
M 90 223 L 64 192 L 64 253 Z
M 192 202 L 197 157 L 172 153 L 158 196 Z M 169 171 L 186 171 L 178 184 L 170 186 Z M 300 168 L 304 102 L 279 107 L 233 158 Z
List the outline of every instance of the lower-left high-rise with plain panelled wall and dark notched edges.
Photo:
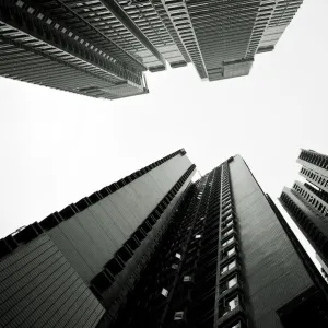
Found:
M 0 327 L 95 327 L 118 309 L 190 183 L 185 153 L 1 239 Z

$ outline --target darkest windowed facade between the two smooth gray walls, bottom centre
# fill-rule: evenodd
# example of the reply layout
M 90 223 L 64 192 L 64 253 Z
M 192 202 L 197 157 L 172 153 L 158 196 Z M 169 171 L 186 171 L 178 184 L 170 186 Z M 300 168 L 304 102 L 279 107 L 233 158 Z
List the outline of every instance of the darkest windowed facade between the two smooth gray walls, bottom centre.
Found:
M 157 320 L 168 326 L 175 321 L 188 324 L 195 320 L 201 327 L 213 326 L 220 239 L 220 174 L 221 168 L 218 167 L 190 187 L 186 208 L 176 212 L 177 216 L 172 220 L 173 225 L 163 238 L 164 244 L 154 256 L 154 263 L 150 263 L 137 285 L 139 305 L 133 311 L 136 315 L 132 319 L 128 315 L 120 315 L 115 327 L 155 327 Z M 161 285 L 157 286 L 157 283 Z M 233 280 L 230 285 L 233 288 Z M 167 297 L 161 294 L 163 286 L 169 291 Z M 138 292 L 141 290 L 142 293 Z M 191 304 L 186 302 L 191 298 L 198 300 L 200 306 L 191 308 Z M 130 304 L 127 304 L 124 313 L 129 314 L 129 306 L 136 306 L 132 301 Z M 150 306 L 152 311 L 148 312 Z M 144 311 L 151 314 L 147 323 L 142 315 Z

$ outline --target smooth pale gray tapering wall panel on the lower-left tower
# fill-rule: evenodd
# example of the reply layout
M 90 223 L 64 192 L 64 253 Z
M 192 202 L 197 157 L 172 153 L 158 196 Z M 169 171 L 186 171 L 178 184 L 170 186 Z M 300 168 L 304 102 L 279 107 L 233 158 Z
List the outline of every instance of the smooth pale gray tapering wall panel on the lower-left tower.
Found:
M 87 283 L 190 165 L 178 154 L 47 233 Z

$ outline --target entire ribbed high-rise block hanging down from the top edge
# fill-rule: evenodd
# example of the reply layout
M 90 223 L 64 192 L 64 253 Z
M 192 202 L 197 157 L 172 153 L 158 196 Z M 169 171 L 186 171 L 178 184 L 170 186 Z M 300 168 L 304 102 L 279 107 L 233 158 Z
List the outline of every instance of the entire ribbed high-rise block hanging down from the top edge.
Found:
M 0 75 L 109 99 L 148 93 L 166 62 L 246 75 L 302 1 L 0 0 Z

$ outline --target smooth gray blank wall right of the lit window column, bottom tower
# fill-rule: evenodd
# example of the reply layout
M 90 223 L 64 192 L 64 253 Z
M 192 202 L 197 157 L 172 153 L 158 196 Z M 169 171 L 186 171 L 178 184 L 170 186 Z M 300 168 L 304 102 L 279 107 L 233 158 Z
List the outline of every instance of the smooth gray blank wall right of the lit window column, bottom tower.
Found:
M 230 163 L 250 327 L 282 328 L 276 311 L 313 282 L 241 156 Z

